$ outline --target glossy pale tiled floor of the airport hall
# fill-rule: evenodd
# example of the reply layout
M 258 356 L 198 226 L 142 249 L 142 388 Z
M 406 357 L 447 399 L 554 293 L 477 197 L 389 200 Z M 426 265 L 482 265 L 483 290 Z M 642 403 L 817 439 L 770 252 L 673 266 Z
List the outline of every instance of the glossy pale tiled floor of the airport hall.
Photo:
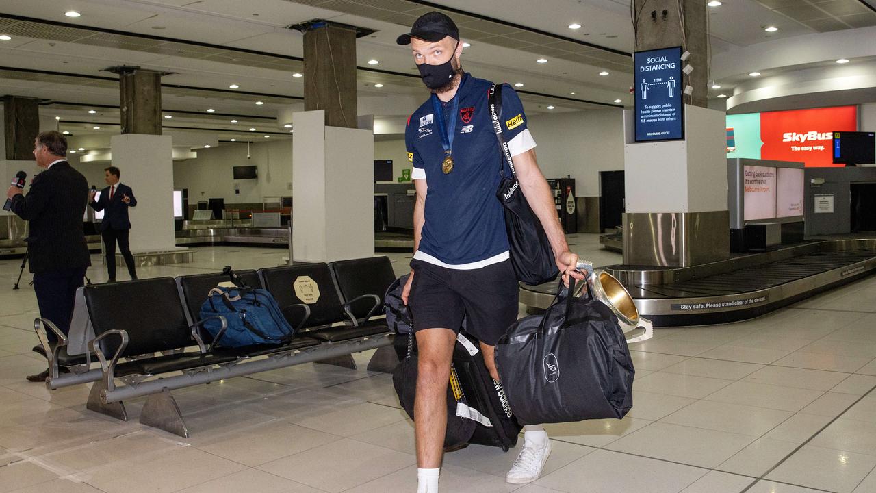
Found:
M 596 235 L 569 242 L 597 266 L 620 261 Z M 285 253 L 199 247 L 194 263 L 140 274 L 267 267 Z M 391 258 L 406 271 L 405 255 Z M 413 427 L 390 375 L 307 364 L 179 390 L 190 439 L 87 411 L 87 386 L 25 382 L 45 364 L 31 353 L 29 276 L 11 290 L 19 263 L 0 260 L 0 492 L 415 490 Z M 554 453 L 523 487 L 504 481 L 514 452 L 447 454 L 442 491 L 876 492 L 876 276 L 749 322 L 654 333 L 631 347 L 625 419 L 548 425 Z M 133 418 L 142 404 L 128 403 Z

